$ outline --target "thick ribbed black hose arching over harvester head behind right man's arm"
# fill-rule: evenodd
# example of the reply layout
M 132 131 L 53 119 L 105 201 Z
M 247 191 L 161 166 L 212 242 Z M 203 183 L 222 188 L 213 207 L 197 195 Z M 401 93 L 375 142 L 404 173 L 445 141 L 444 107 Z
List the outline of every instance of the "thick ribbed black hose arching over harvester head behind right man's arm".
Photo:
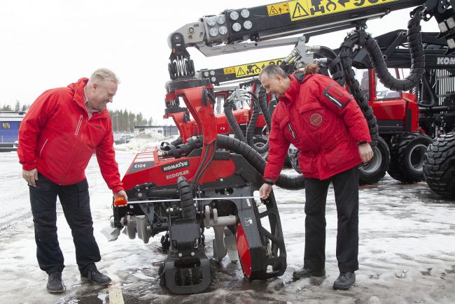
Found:
M 231 150 L 232 152 L 240 154 L 256 171 L 258 171 L 258 173 L 261 175 L 264 174 L 265 159 L 246 143 L 237 138 L 218 134 L 216 145 L 221 149 Z M 180 158 L 183 154 L 188 155 L 192 150 L 199 147 L 202 147 L 202 136 L 198 136 L 197 139 L 190 138 L 188 143 L 181 144 L 177 147 L 167 146 L 167 150 L 165 150 L 164 154 L 165 156 Z M 276 180 L 276 185 L 283 189 L 304 189 L 304 177 L 303 175 L 285 175 L 281 173 L 278 180 Z

